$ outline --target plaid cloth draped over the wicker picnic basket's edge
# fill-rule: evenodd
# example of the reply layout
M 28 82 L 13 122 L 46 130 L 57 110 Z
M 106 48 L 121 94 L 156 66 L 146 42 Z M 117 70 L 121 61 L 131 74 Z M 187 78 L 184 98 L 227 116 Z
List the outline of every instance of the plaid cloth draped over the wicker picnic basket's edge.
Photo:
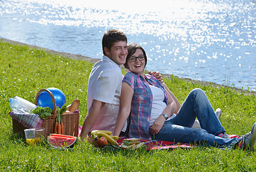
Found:
M 39 118 L 37 114 L 24 114 L 24 113 L 14 113 L 11 111 L 9 113 L 11 118 L 22 123 L 26 128 L 40 128 L 43 120 Z

